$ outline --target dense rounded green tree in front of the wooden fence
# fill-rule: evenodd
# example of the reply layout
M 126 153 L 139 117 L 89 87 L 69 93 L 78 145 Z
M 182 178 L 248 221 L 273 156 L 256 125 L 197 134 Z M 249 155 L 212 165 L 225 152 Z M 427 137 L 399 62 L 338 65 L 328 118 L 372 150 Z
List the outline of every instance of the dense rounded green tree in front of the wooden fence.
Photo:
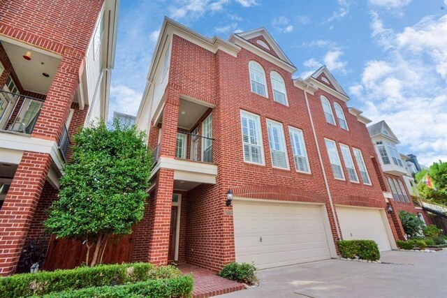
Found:
M 45 228 L 57 238 L 83 241 L 86 265 L 102 262 L 109 237 L 131 234 L 142 219 L 152 167 L 144 140 L 135 126 L 118 121 L 83 128 L 74 136 L 73 158 L 64 169 L 59 200 L 52 204 Z

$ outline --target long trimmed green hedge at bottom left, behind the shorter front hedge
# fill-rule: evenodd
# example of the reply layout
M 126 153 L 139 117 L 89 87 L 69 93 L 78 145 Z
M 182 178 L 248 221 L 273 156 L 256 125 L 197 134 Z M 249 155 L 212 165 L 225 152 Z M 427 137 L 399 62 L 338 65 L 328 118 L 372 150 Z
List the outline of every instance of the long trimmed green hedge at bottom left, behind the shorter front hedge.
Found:
M 181 276 L 174 267 L 155 267 L 149 263 L 98 265 L 70 270 L 40 271 L 0 278 L 0 297 L 29 297 L 66 290 L 104 285 L 123 285 L 155 278 Z

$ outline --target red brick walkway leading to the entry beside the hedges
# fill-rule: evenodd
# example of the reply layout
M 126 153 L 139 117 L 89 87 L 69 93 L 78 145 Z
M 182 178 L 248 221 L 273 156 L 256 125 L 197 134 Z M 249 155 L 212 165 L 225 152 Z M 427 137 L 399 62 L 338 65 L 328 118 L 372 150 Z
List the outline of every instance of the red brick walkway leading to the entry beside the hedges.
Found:
M 244 285 L 217 276 L 215 272 L 193 265 L 179 265 L 184 274 L 192 273 L 194 277 L 193 298 L 206 298 L 223 295 L 244 289 Z

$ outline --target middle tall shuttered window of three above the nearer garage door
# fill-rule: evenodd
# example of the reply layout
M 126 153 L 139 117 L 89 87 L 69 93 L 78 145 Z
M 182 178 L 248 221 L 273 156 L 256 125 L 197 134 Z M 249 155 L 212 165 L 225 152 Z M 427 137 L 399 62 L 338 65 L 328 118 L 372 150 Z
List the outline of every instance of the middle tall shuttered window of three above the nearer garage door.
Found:
M 267 120 L 268 141 L 270 144 L 270 155 L 274 167 L 288 168 L 286 156 L 286 144 L 282 124 Z

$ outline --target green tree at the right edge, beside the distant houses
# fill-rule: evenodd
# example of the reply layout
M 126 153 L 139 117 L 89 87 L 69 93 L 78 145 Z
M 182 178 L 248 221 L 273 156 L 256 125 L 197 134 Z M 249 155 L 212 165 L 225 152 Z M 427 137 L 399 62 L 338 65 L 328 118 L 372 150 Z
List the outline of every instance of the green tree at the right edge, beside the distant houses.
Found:
M 425 174 L 432 179 L 434 188 L 429 188 L 422 180 Z M 423 170 L 416 174 L 416 181 L 418 181 L 418 192 L 421 198 L 438 204 L 447 206 L 447 162 L 439 161 L 433 163 L 428 170 Z

